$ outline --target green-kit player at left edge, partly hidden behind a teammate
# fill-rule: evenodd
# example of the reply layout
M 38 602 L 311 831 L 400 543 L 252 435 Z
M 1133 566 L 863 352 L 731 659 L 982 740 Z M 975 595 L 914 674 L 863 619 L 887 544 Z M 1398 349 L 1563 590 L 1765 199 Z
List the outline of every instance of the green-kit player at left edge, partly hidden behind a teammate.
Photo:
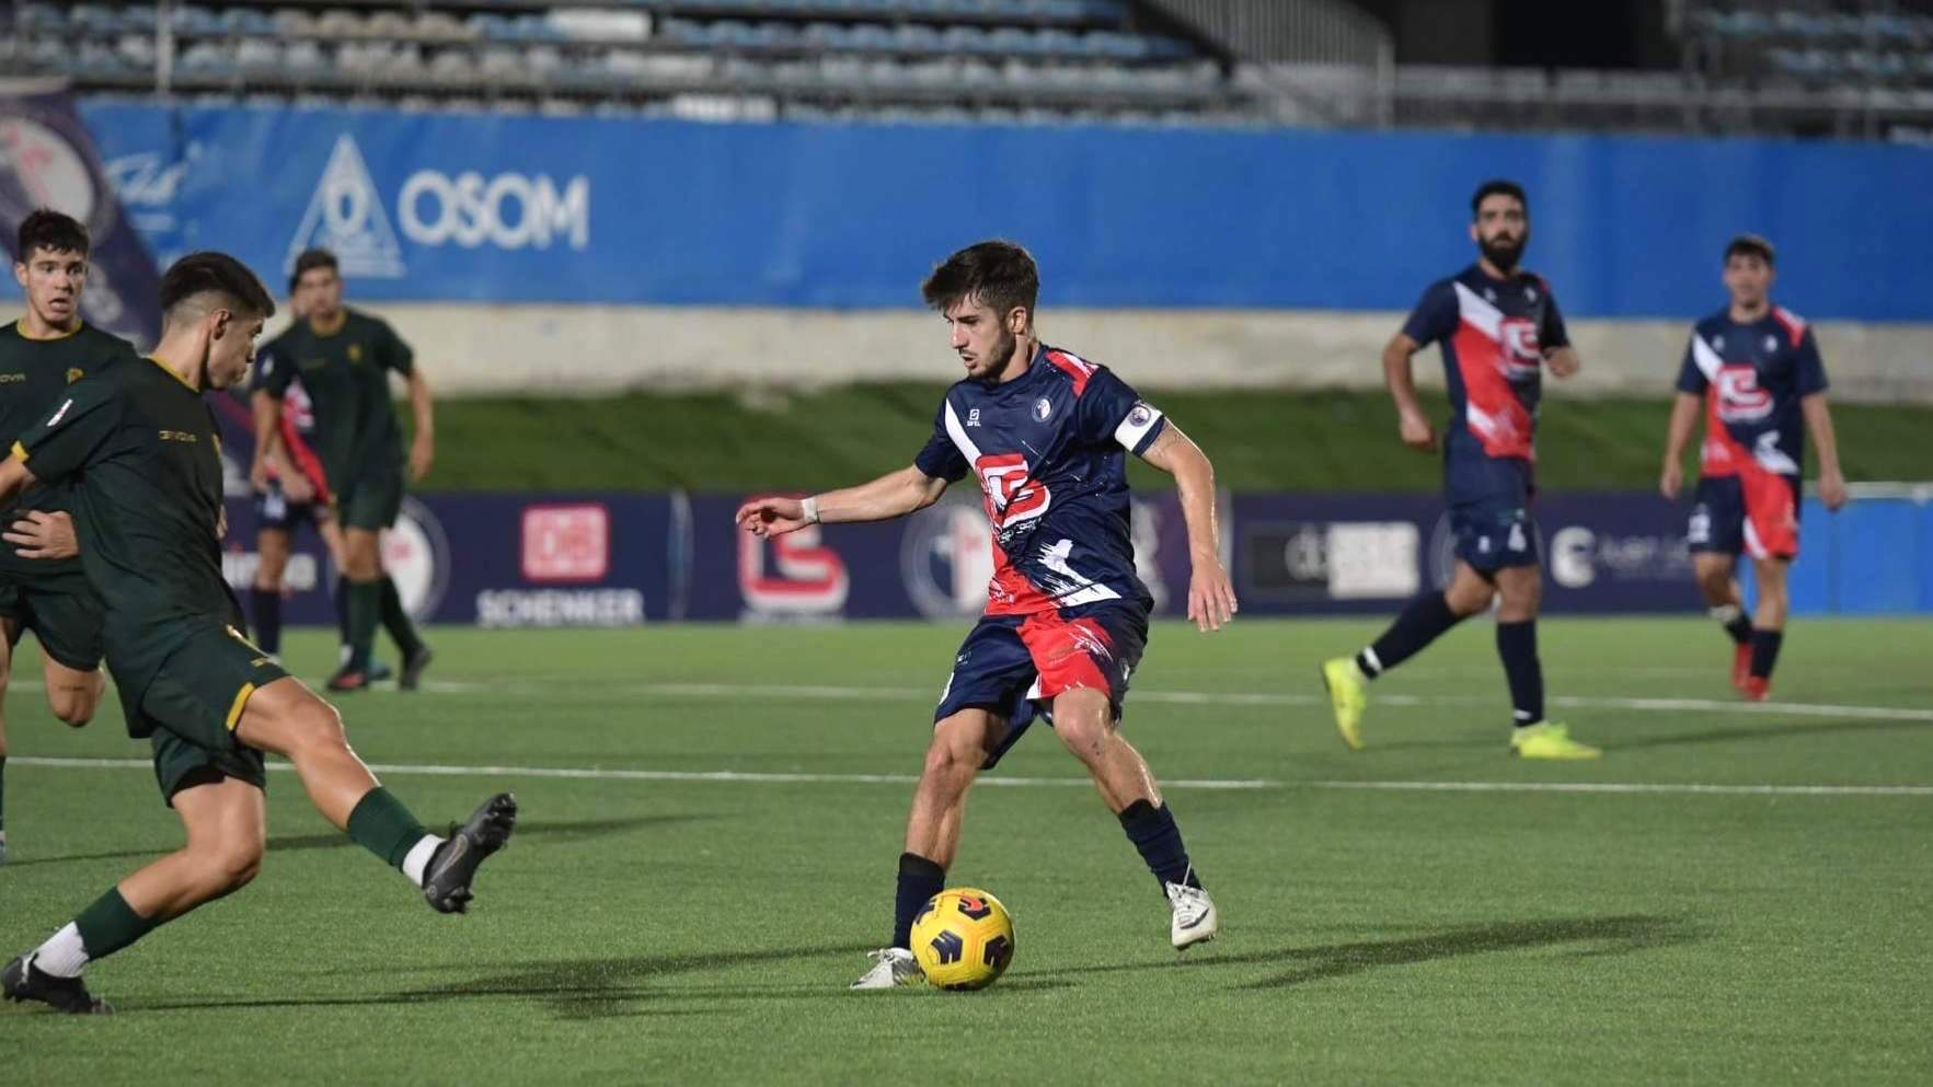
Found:
M 0 450 L 46 419 L 68 384 L 95 375 L 133 344 L 81 321 L 87 290 L 87 228 L 56 210 L 21 220 L 14 280 L 27 311 L 0 328 Z M 77 558 L 43 558 L 44 537 L 72 539 L 68 490 L 41 487 L 4 508 L 12 525 L 0 546 L 0 699 L 23 631 L 41 639 L 41 670 L 54 716 L 79 728 L 101 703 L 101 600 Z M 43 541 L 43 543 L 35 543 Z M 6 861 L 6 716 L 0 716 L 0 861 Z

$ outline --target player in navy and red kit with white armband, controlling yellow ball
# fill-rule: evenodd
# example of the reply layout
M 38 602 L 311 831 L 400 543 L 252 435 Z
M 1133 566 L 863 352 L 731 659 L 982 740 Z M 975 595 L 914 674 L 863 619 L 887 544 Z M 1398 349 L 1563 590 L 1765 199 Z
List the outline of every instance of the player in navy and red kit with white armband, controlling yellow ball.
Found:
M 1036 716 L 1079 757 L 1169 902 L 1169 940 L 1214 936 L 1218 915 L 1140 753 L 1119 734 L 1129 676 L 1154 604 L 1135 577 L 1125 454 L 1175 477 L 1189 529 L 1189 618 L 1235 612 L 1214 523 L 1214 469 L 1160 411 L 1106 367 L 1040 344 L 1034 259 L 982 241 L 939 265 L 922 293 L 951 328 L 966 378 L 947 390 L 910 467 L 816 498 L 758 498 L 738 523 L 773 537 L 820 521 L 881 521 L 932 506 L 976 475 L 994 523 L 988 608 L 966 635 L 934 712 L 926 766 L 899 857 L 891 944 L 852 989 L 920 981 L 914 913 L 945 886 L 974 776 Z

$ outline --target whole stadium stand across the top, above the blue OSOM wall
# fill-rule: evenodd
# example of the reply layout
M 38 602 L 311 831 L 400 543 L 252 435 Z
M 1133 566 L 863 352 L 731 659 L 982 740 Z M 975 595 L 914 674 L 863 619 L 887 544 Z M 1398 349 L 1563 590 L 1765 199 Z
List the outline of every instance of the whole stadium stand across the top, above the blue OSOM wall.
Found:
M 162 15 L 162 12 L 166 15 Z M 1662 70 L 1396 64 L 1343 0 L 29 0 L 8 71 L 85 93 L 692 120 L 1923 137 L 1933 15 L 1676 0 Z

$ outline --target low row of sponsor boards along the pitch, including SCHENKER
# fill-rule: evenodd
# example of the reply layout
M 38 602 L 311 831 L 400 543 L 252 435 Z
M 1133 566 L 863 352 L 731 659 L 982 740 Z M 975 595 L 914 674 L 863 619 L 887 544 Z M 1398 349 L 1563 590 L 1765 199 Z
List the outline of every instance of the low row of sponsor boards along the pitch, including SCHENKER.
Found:
M 421 620 L 485 627 L 709 622 L 968 622 L 986 606 L 990 529 L 968 494 L 899 521 L 760 541 L 733 494 L 427 494 L 404 504 L 385 562 Z M 1929 496 L 1933 498 L 1933 496 Z M 1933 500 L 1807 502 L 1792 570 L 1800 614 L 1933 610 Z M 1653 494 L 1537 502 L 1550 614 L 1701 610 L 1688 510 Z M 232 498 L 228 581 L 253 583 L 255 516 Z M 1456 564 L 1442 502 L 1421 494 L 1237 494 L 1224 504 L 1245 616 L 1394 614 Z M 1164 616 L 1187 610 L 1189 546 L 1173 492 L 1137 494 L 1139 573 Z M 332 624 L 315 533 L 288 564 L 292 624 Z M 1749 579 L 1747 579 L 1749 585 Z

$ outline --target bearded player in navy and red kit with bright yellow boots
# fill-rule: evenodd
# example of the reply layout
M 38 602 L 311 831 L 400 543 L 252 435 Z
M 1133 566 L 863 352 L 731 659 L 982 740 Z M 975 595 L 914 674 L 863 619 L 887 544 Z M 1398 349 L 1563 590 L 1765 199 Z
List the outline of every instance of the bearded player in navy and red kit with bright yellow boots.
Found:
M 1456 535 L 1456 573 L 1444 589 L 1417 597 L 1353 658 L 1322 662 L 1336 728 L 1363 745 L 1369 680 L 1396 668 L 1457 622 L 1496 610 L 1496 653 L 1510 683 L 1510 753 L 1525 759 L 1595 759 L 1570 730 L 1544 720 L 1544 672 L 1537 660 L 1543 570 L 1531 519 L 1537 461 L 1537 402 L 1543 367 L 1577 373 L 1564 317 L 1543 276 L 1519 270 L 1531 239 L 1529 201 L 1515 181 L 1486 181 L 1471 199 L 1471 241 L 1481 257 L 1423 292 L 1423 301 L 1382 351 L 1403 444 L 1434 450 L 1436 432 L 1417 402 L 1409 357 L 1442 344 L 1450 384 L 1444 434 L 1444 498 Z

